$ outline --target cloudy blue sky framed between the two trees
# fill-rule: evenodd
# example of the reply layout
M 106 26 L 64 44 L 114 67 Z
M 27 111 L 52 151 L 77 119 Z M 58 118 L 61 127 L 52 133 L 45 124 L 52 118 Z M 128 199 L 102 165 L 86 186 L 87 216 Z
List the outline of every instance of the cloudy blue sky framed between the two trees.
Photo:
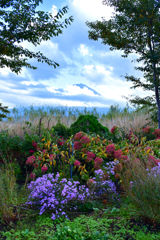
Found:
M 109 19 L 114 10 L 104 6 L 102 0 L 44 0 L 39 8 L 54 15 L 66 5 L 74 22 L 62 35 L 38 47 L 22 43 L 30 50 L 41 51 L 60 66 L 54 69 L 32 60 L 37 70 L 23 68 L 19 75 L 0 68 L 0 102 L 9 108 L 31 105 L 108 108 L 116 104 L 125 106 L 125 97 L 130 95 L 144 96 L 142 90 L 131 90 L 131 83 L 124 77 L 140 74 L 131 62 L 135 54 L 122 58 L 122 52 L 110 51 L 101 41 L 88 39 L 86 21 Z

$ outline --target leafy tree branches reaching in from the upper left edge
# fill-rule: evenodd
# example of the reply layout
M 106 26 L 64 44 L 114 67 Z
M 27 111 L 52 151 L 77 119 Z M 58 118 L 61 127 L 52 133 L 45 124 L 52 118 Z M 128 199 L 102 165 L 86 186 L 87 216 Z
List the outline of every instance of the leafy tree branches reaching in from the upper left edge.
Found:
M 43 0 L 0 0 L 0 68 L 8 67 L 17 74 L 22 67 L 36 69 L 28 62 L 31 58 L 54 68 L 59 66 L 41 52 L 30 51 L 21 44 L 27 41 L 37 46 L 42 41 L 61 34 L 63 28 L 73 21 L 72 17 L 62 19 L 68 11 L 67 7 L 59 10 L 56 16 L 36 11 L 42 2 Z M 5 112 L 5 107 L 1 106 L 0 110 Z

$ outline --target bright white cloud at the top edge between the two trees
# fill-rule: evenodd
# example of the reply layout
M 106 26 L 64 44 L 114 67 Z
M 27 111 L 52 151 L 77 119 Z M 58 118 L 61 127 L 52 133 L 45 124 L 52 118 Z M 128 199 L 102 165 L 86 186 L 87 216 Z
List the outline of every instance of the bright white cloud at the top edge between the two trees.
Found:
M 110 19 L 113 8 L 103 5 L 102 0 L 70 0 L 74 9 L 85 17 L 85 20 Z

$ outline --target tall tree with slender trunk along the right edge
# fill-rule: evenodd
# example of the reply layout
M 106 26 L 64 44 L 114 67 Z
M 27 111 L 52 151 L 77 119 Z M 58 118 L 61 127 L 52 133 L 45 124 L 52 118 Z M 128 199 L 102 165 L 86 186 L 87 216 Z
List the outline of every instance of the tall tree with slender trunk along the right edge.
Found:
M 160 128 L 160 1 L 159 0 L 104 0 L 103 4 L 114 7 L 115 14 L 110 20 L 87 22 L 89 38 L 101 39 L 111 50 L 123 50 L 122 57 L 137 54 L 141 63 L 137 70 L 142 78 L 126 75 L 127 81 L 151 91 L 153 95 L 136 97 L 130 101 L 141 106 L 157 106 L 158 127 Z

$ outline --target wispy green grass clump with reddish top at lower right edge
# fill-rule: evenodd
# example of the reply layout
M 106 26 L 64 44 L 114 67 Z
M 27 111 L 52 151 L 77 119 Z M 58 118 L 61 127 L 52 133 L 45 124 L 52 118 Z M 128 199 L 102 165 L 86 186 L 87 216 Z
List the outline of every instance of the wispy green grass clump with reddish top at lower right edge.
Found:
M 160 223 L 160 165 L 151 167 L 141 161 L 129 161 L 122 181 L 139 216 Z M 125 182 L 126 181 L 126 182 Z

